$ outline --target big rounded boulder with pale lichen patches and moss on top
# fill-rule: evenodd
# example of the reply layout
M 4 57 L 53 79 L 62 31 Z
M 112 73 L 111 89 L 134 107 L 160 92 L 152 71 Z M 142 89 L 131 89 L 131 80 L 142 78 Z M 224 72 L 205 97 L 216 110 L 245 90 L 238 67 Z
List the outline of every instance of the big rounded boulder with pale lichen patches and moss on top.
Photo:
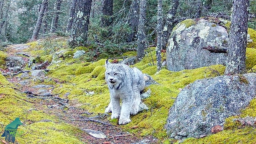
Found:
M 225 64 L 226 53 L 211 53 L 205 47 L 217 49 L 228 47 L 227 30 L 204 19 L 189 19 L 177 24 L 167 45 L 167 69 L 180 71 L 204 66 Z M 227 21 L 226 21 L 227 22 Z M 225 21 L 223 21 L 225 23 Z

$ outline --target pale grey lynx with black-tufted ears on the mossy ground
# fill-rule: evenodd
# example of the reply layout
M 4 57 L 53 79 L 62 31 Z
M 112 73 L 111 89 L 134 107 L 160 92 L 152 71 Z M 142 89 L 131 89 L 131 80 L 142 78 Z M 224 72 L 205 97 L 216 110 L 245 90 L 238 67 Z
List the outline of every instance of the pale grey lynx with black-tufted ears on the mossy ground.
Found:
M 111 64 L 108 60 L 105 67 L 105 80 L 110 92 L 110 103 L 105 113 L 112 111 L 111 119 L 119 118 L 119 124 L 128 124 L 131 122 L 130 114 L 135 115 L 139 111 L 140 91 L 145 87 L 143 74 L 137 68 L 130 68 L 124 63 Z

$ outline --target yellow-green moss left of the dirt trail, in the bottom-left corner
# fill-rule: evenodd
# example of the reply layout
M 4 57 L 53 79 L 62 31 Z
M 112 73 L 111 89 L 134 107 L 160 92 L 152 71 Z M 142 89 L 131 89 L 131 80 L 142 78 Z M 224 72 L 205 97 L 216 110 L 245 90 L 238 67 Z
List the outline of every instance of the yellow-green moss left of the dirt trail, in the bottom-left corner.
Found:
M 4 132 L 4 126 L 20 117 L 23 122 L 18 131 L 23 131 L 22 137 L 16 137 L 19 144 L 27 143 L 83 143 L 79 139 L 82 133 L 76 127 L 65 124 L 56 117 L 47 115 L 43 110 L 28 111 L 35 108 L 32 103 L 26 101 L 26 97 L 16 92 L 11 83 L 0 74 L 0 133 Z M 30 99 L 28 99 L 30 101 Z M 38 122 L 43 119 L 52 122 Z

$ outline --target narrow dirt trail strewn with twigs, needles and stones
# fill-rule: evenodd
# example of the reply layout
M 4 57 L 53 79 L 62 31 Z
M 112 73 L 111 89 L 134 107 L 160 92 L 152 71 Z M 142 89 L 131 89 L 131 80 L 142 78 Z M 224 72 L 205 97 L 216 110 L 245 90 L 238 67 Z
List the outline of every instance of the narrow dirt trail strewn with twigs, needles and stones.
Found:
M 29 57 L 17 54 L 25 53 L 30 55 L 30 53 L 27 52 L 27 49 L 27 45 L 12 45 L 6 49 L 6 53 L 8 54 L 8 57 L 21 57 L 26 62 L 28 62 Z M 47 69 L 47 67 L 45 69 Z M 44 80 L 29 78 L 24 81 L 23 79 L 16 76 L 7 78 L 7 80 L 17 87 L 16 90 L 19 93 L 26 93 L 26 101 L 31 103 L 36 110 L 43 111 L 48 115 L 54 115 L 59 120 L 74 127 L 78 127 L 81 130 L 91 129 L 101 131 L 106 135 L 106 138 L 95 138 L 86 132 L 77 135 L 79 139 L 85 143 L 129 144 L 140 142 L 143 139 L 150 141 L 150 143 L 157 143 L 157 140 L 150 135 L 147 137 L 137 136 L 136 134 L 123 131 L 122 128 L 118 126 L 110 124 L 107 121 L 107 117 L 110 117 L 110 115 L 108 114 L 99 114 L 98 116 L 94 117 L 83 116 L 83 114 L 90 115 L 90 113 L 87 110 L 80 108 L 80 106 L 84 104 L 81 104 L 77 101 L 59 98 L 58 94 L 49 94 L 45 96 L 40 95 L 40 93 L 38 93 L 38 90 L 42 87 L 42 85 L 43 87 L 48 87 L 47 90 L 49 90 L 49 92 L 54 90 L 54 86 L 45 85 L 43 83 Z M 22 84 L 24 82 L 25 84 Z M 56 81 L 56 84 L 57 83 L 58 81 Z M 43 121 L 47 122 L 48 120 Z M 29 125 L 29 121 L 25 121 L 25 124 Z

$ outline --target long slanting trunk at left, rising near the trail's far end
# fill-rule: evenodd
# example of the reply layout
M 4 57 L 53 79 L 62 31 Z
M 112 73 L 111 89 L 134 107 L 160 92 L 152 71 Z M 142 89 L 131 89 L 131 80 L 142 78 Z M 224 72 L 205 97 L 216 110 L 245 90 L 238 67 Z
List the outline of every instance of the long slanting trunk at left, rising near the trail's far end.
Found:
M 37 37 L 38 37 L 47 4 L 48 4 L 48 0 L 43 0 L 42 1 L 42 5 L 41 5 L 41 8 L 40 8 L 38 18 L 37 18 L 36 26 L 33 30 L 33 34 L 32 34 L 32 37 L 30 39 L 31 41 L 36 40 Z

